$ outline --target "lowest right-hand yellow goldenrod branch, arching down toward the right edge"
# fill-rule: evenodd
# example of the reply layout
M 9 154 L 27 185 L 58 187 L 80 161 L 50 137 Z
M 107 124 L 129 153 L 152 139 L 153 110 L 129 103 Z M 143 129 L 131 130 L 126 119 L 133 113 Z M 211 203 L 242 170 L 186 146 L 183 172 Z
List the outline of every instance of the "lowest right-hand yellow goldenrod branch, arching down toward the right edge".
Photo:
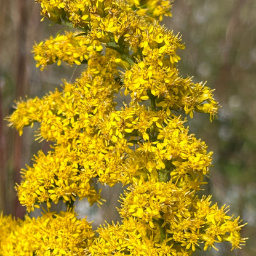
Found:
M 123 218 L 138 218 L 146 223 L 154 241 L 165 239 L 173 249 L 179 244 L 194 251 L 205 242 L 206 250 L 221 241 L 232 241 L 234 248 L 242 242 L 237 232 L 241 226 L 238 219 L 226 215 L 227 207 L 210 206 L 210 196 L 199 199 L 195 190 L 180 188 L 171 181 L 140 180 L 128 188 L 122 200 L 119 212 Z

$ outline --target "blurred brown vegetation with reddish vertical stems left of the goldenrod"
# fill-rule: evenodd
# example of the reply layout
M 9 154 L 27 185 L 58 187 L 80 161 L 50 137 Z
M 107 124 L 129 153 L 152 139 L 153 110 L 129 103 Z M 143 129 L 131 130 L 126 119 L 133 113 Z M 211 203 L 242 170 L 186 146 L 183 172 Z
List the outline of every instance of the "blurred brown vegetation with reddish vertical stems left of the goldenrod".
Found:
M 25 208 L 20 206 L 14 190 L 15 183 L 20 182 L 20 169 L 31 164 L 39 146 L 47 151 L 49 144 L 34 142 L 36 127 L 25 129 L 24 136 L 19 137 L 7 127 L 4 118 L 14 111 L 14 100 L 26 95 L 41 97 L 59 87 L 62 79 L 74 81 L 79 68 L 53 65 L 44 72 L 37 69 L 31 54 L 34 42 L 57 33 L 60 26 L 47 26 L 47 20 L 42 26 L 39 5 L 33 0 L 2 0 L 0 7 L 0 210 L 22 217 Z

